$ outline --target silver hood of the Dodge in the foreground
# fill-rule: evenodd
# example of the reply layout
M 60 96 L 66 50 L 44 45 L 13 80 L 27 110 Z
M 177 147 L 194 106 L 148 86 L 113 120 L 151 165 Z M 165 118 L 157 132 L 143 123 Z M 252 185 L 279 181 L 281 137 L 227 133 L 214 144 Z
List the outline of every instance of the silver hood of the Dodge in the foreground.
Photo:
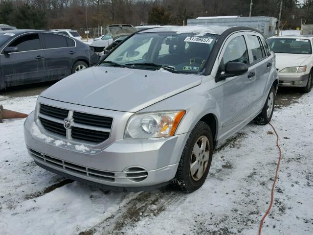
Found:
M 89 107 L 137 112 L 200 84 L 199 75 L 99 66 L 74 73 L 40 95 Z

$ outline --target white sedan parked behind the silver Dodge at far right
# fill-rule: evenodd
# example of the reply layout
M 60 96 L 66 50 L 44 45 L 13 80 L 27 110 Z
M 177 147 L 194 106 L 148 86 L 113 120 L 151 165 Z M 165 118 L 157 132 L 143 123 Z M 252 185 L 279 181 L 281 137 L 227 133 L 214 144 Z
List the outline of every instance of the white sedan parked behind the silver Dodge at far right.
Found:
M 268 38 L 270 50 L 276 54 L 279 86 L 300 87 L 311 91 L 313 79 L 312 35 L 275 36 Z

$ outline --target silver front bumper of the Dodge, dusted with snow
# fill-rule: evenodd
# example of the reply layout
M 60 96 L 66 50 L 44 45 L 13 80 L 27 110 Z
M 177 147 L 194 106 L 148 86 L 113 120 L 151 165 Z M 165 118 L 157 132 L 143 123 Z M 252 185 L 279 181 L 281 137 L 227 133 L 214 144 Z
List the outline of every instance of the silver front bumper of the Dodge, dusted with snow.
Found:
M 117 140 L 103 149 L 86 149 L 33 135 L 32 113 L 24 123 L 30 156 L 50 171 L 111 188 L 145 188 L 170 182 L 189 133 L 170 138 Z M 38 135 L 37 135 L 38 136 Z

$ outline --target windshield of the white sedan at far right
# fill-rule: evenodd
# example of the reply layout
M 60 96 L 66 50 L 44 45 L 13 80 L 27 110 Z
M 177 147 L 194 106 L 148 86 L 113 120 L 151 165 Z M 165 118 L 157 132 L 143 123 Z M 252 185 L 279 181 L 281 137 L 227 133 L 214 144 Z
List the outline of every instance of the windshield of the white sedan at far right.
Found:
M 267 41 L 269 48 L 275 53 L 312 54 L 309 39 L 271 38 Z

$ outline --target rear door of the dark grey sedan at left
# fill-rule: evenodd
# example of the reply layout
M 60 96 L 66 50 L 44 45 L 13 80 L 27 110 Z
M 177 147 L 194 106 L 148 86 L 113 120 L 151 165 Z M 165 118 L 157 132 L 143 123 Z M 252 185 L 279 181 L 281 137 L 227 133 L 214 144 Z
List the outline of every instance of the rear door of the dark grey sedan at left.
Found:
M 70 75 L 76 53 L 75 41 L 54 33 L 42 33 L 42 37 L 49 79 L 62 79 Z

